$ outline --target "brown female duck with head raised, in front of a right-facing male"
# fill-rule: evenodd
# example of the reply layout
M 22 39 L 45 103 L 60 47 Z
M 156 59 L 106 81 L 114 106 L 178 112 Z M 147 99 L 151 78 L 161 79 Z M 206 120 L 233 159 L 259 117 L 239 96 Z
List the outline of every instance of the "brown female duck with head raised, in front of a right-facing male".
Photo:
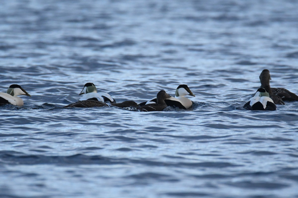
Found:
M 156 96 L 156 103 L 146 104 L 144 106 L 138 107 L 137 109 L 141 111 L 162 111 L 164 108 L 167 107 L 165 99 L 168 99 L 170 97 L 172 96 L 167 94 L 164 90 L 159 91 Z

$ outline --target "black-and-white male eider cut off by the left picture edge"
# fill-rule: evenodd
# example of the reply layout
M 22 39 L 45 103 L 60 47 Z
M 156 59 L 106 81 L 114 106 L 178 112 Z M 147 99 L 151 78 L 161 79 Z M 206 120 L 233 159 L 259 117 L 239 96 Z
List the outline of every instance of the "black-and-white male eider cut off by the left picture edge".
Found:
M 13 104 L 23 106 L 23 100 L 18 97 L 19 95 L 30 96 L 20 85 L 10 85 L 6 93 L 0 92 L 0 104 Z

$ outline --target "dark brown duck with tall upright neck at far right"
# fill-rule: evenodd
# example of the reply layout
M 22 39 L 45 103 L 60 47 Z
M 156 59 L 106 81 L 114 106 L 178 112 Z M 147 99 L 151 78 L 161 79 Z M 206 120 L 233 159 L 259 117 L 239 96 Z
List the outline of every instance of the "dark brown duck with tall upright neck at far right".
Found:
M 274 104 L 285 104 L 283 101 L 298 101 L 298 96 L 285 88 L 271 88 L 271 75 L 268 69 L 264 69 L 260 74 L 261 86 L 268 90 L 270 98 Z

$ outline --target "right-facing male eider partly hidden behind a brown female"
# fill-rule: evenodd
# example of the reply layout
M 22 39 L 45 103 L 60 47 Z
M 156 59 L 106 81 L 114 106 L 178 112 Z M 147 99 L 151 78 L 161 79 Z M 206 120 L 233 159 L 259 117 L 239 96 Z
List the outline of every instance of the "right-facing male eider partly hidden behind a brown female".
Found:
M 188 88 L 187 85 L 179 85 L 176 89 L 175 97 L 166 99 L 165 103 L 167 104 L 167 106 L 179 107 L 180 109 L 188 109 L 189 107 L 191 107 L 191 105 L 193 105 L 193 102 L 190 99 L 184 97 L 186 95 L 195 97 L 195 94 L 190 91 L 190 88 Z M 153 103 L 156 103 L 156 97 L 146 102 L 140 103 L 139 106 Z

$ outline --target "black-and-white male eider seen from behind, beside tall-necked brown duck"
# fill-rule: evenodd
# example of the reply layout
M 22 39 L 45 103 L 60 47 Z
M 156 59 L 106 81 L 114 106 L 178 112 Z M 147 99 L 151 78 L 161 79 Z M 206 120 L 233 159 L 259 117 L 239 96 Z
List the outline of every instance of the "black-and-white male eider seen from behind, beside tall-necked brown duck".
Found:
M 274 111 L 276 105 L 269 97 L 269 93 L 264 88 L 259 88 L 257 92 L 243 106 L 247 110 Z

